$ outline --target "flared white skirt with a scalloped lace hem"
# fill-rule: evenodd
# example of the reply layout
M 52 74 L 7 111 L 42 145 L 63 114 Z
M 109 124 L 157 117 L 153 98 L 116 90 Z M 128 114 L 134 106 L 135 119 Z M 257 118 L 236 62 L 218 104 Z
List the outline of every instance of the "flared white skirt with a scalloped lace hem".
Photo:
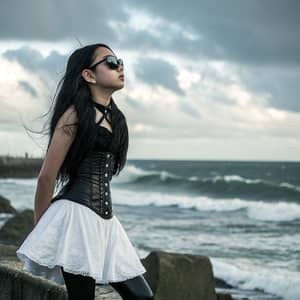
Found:
M 16 254 L 24 270 L 58 284 L 65 284 L 60 266 L 73 274 L 91 276 L 100 284 L 146 272 L 115 215 L 101 218 L 68 199 L 51 203 Z

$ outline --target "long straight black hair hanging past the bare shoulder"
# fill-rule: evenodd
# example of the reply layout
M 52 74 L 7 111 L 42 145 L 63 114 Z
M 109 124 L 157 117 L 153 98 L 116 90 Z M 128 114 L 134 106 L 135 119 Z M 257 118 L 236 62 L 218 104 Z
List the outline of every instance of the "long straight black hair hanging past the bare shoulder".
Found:
M 57 183 L 63 184 L 76 174 L 77 167 L 85 154 L 92 149 L 96 137 L 96 111 L 94 109 L 88 83 L 81 75 L 81 71 L 88 68 L 95 59 L 95 50 L 98 47 L 111 48 L 106 44 L 92 44 L 76 49 L 69 57 L 66 71 L 59 81 L 55 97 L 55 104 L 52 110 L 50 121 L 50 136 L 47 146 L 49 149 L 52 136 L 58 120 L 64 112 L 73 105 L 77 113 L 77 122 L 69 125 L 77 125 L 75 139 L 59 169 Z M 112 50 L 111 50 L 112 51 Z M 112 51 L 113 52 L 113 51 Z M 56 94 L 55 93 L 55 94 Z M 113 175 L 119 175 L 125 166 L 128 151 L 128 127 L 124 114 L 118 108 L 111 97 L 112 105 L 111 125 L 112 125 L 112 147 L 115 154 L 115 167 Z

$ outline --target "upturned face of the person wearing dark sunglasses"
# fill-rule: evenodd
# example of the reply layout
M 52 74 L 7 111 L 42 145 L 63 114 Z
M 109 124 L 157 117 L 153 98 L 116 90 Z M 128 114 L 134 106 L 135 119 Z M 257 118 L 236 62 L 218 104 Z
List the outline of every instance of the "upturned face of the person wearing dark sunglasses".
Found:
M 106 47 L 98 47 L 95 50 L 95 58 L 92 61 L 94 63 L 102 60 L 107 55 L 115 54 Z M 94 73 L 95 84 L 102 88 L 111 88 L 113 90 L 119 90 L 124 86 L 124 78 L 119 78 L 120 75 L 124 74 L 123 66 L 118 69 L 110 69 L 110 67 L 104 62 L 98 64 L 92 72 Z

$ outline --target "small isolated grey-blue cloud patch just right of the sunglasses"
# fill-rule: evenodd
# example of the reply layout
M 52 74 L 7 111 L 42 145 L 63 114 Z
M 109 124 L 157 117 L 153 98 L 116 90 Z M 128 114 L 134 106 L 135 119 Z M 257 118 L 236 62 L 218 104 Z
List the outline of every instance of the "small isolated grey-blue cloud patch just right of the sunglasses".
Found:
M 164 86 L 176 93 L 184 93 L 176 80 L 177 69 L 167 61 L 142 58 L 134 67 L 136 75 L 140 80 L 144 80 L 148 84 Z

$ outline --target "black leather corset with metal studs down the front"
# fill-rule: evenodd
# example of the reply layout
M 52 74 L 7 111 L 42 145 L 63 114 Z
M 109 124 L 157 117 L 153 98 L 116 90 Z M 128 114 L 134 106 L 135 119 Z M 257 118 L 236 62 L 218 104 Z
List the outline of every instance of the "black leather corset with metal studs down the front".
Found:
M 51 202 L 62 198 L 69 199 L 89 207 L 102 218 L 112 218 L 110 181 L 115 156 L 109 151 L 107 141 L 108 139 L 104 144 L 105 139 L 102 139 L 103 144 L 95 144 L 93 150 L 81 161 L 76 176 L 68 181 Z

